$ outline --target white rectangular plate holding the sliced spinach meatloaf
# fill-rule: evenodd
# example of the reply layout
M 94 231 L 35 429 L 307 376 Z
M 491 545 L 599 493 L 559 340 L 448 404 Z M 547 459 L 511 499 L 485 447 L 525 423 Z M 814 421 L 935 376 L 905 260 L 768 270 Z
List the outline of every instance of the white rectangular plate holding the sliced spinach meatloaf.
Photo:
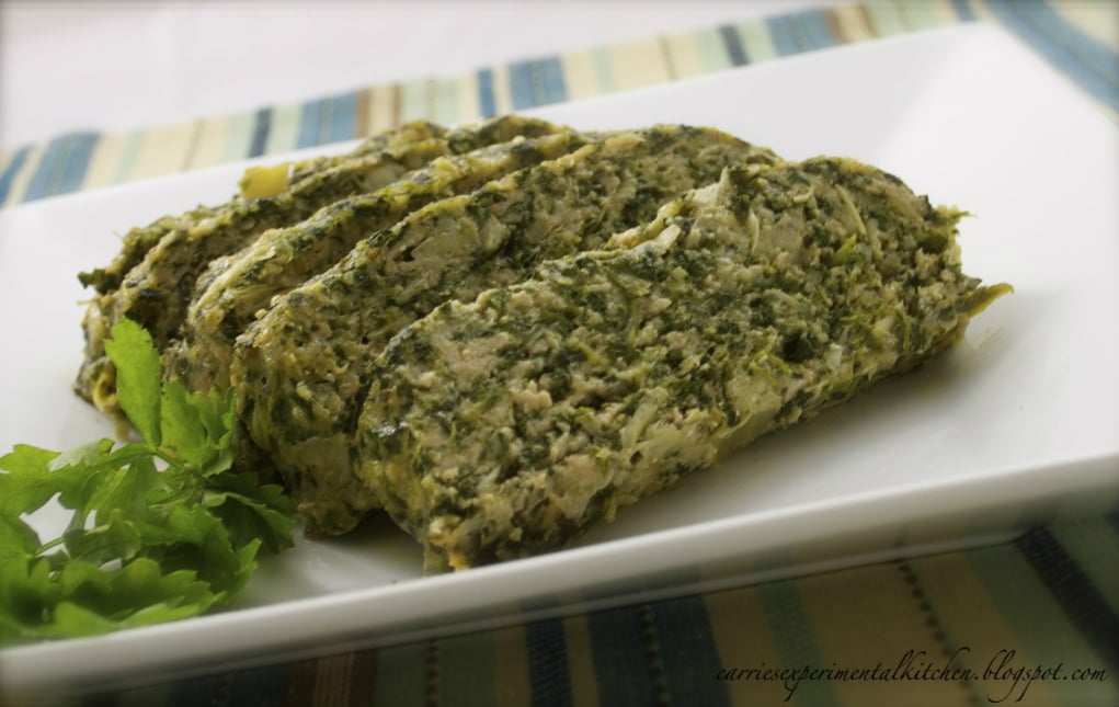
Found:
M 790 159 L 880 166 L 975 214 L 961 227 L 967 272 L 1015 293 L 921 371 L 623 510 L 573 549 L 424 578 L 419 548 L 375 521 L 352 538 L 301 541 L 225 613 L 0 651 L 3 685 L 385 643 L 916 552 L 1115 502 L 1119 131 L 1012 37 L 938 30 L 537 114 L 585 129 L 713 125 Z M 86 296 L 75 273 L 106 263 L 130 226 L 225 199 L 243 167 L 0 214 L 0 450 L 111 434 L 69 390 Z

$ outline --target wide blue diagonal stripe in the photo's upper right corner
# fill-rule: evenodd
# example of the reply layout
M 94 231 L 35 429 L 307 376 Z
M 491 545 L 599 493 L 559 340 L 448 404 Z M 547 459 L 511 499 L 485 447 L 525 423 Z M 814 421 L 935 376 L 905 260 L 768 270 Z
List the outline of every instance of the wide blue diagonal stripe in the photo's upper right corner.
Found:
M 1119 111 L 1119 55 L 1044 2 L 988 2 L 987 7 L 1081 88 Z

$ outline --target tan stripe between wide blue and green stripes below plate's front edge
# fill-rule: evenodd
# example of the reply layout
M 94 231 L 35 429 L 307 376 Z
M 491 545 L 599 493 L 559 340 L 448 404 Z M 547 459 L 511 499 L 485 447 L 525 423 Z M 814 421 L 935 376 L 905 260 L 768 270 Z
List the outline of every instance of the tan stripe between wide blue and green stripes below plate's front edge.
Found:
M 765 610 L 753 587 L 704 595 L 718 662 L 723 670 L 786 667 L 769 631 Z M 714 679 L 715 676 L 712 676 Z M 788 691 L 780 682 L 728 679 L 732 705 L 782 705 Z

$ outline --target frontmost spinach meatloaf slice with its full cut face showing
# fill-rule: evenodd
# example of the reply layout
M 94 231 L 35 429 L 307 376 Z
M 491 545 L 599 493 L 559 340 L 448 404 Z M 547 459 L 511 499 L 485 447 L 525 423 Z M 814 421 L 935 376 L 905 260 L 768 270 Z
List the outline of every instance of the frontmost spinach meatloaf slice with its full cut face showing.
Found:
M 357 475 L 429 569 L 561 547 L 959 339 L 1006 287 L 961 272 L 958 216 L 849 160 L 731 169 L 404 328 L 367 368 Z

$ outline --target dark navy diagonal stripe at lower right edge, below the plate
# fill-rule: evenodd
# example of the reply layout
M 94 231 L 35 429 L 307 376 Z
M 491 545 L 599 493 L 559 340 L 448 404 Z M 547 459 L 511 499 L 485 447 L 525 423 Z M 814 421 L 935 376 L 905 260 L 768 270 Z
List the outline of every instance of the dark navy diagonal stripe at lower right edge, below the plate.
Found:
M 1103 662 L 1119 666 L 1119 616 L 1076 560 L 1044 527 L 1031 530 L 1015 540 L 1015 545 Z

